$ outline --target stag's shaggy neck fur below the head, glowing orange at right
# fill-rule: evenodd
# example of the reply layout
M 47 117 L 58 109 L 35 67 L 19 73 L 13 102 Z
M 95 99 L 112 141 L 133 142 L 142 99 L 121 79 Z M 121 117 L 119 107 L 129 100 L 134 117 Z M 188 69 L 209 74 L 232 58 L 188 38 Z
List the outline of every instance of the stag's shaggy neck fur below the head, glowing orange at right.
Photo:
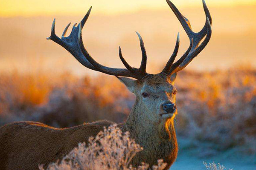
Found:
M 149 122 L 143 117 L 145 114 L 140 113 L 143 111 L 140 107 L 136 100 L 128 119 L 121 127 L 123 132 L 129 131 L 131 138 L 143 147 L 143 151 L 137 153 L 132 164 L 138 166 L 141 162 L 145 162 L 152 166 L 157 164 L 158 159 L 163 159 L 168 164 L 167 170 L 175 161 L 178 150 L 174 118 Z

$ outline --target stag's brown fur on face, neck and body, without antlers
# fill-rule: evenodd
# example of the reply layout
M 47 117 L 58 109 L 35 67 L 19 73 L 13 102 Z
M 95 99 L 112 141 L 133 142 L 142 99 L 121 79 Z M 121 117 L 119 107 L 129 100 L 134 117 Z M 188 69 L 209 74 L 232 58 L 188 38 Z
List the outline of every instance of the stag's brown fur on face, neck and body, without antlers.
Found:
M 170 93 L 175 88 L 171 79 L 163 74 L 149 75 L 143 82 L 120 79 L 137 96 L 127 121 L 118 125 L 122 131 L 129 131 L 131 138 L 144 148 L 137 153 L 132 164 L 137 166 L 143 161 L 153 165 L 157 164 L 158 159 L 163 159 L 168 163 L 167 170 L 177 157 L 175 116 L 161 119 L 158 112 L 163 102 L 175 102 L 175 97 Z M 140 94 L 144 88 L 148 88 L 151 94 L 147 101 Z M 45 164 L 46 167 L 62 159 L 79 142 L 86 142 L 90 136 L 96 136 L 103 130 L 104 126 L 112 124 L 99 121 L 64 129 L 38 122 L 5 125 L 0 128 L 0 170 L 36 170 L 38 164 Z

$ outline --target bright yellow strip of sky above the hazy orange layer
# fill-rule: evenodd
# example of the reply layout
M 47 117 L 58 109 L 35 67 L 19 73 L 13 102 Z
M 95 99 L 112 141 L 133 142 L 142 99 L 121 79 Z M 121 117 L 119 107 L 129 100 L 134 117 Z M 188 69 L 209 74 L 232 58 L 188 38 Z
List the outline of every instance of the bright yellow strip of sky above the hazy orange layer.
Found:
M 177 6 L 198 6 L 201 0 L 172 0 Z M 206 0 L 210 6 L 256 4 L 256 0 Z M 167 8 L 165 0 L 0 0 L 0 16 L 80 14 L 93 6 L 95 13 L 119 14 Z

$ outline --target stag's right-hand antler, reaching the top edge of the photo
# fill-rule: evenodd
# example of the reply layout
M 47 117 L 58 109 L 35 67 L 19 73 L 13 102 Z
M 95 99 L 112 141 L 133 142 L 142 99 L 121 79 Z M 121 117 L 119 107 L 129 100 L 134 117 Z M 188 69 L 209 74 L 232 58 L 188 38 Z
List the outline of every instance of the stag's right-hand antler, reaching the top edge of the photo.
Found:
M 182 70 L 183 68 L 185 68 L 189 64 L 189 62 L 191 62 L 192 59 L 194 59 L 208 44 L 212 35 L 212 29 L 211 29 L 212 17 L 209 13 L 209 10 L 206 6 L 205 1 L 203 0 L 204 12 L 206 15 L 206 22 L 205 22 L 204 28 L 198 33 L 195 33 L 192 31 L 189 20 L 180 13 L 180 11 L 176 8 L 176 6 L 169 0 L 166 0 L 166 2 L 171 7 L 172 11 L 175 13 L 176 17 L 180 21 L 181 25 L 183 26 L 190 40 L 190 45 L 188 50 L 183 54 L 182 57 L 180 57 L 180 59 L 177 62 L 173 64 L 175 57 L 177 56 L 177 51 L 179 47 L 179 35 L 178 35 L 175 51 L 162 71 L 162 73 L 172 75 Z M 206 38 L 200 44 L 201 40 L 205 36 Z

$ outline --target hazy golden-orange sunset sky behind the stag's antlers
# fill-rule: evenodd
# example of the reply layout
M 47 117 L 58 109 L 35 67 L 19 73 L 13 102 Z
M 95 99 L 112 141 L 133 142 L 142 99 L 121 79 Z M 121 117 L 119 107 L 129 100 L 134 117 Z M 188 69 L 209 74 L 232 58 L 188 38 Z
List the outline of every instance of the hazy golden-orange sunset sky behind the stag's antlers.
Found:
M 256 0 L 205 1 L 213 19 L 212 38 L 201 57 L 194 59 L 187 69 L 225 69 L 248 63 L 256 67 L 256 23 L 252 22 L 256 17 Z M 172 2 L 189 18 L 194 31 L 203 28 L 202 0 Z M 148 71 L 158 71 L 165 64 L 177 32 L 181 42 L 179 56 L 189 45 L 166 0 L 0 0 L 0 71 L 17 68 L 31 72 L 33 62 L 38 63 L 35 70 L 56 71 L 58 64 L 59 72 L 92 74 L 66 50 L 46 40 L 54 17 L 56 34 L 61 35 L 65 26 L 79 22 L 90 6 L 93 11 L 83 30 L 83 40 L 90 54 L 102 64 L 123 68 L 118 57 L 121 46 L 128 62 L 139 66 L 141 51 L 135 31 L 140 32 L 145 42 Z

